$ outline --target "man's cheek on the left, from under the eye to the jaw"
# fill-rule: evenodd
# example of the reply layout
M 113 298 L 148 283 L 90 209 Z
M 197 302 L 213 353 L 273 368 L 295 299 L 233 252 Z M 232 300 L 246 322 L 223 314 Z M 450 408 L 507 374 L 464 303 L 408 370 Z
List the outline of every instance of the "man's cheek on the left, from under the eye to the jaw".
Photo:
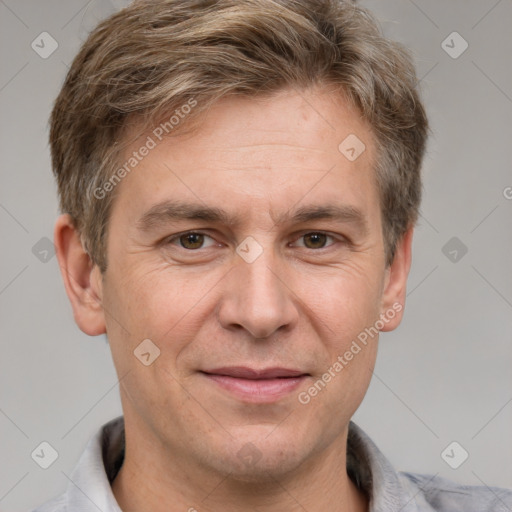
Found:
M 199 311 L 200 297 L 190 292 L 186 282 L 161 269 L 148 272 L 134 267 L 130 274 L 113 275 L 111 283 L 115 285 L 105 288 L 104 307 L 109 312 L 107 334 L 122 378 L 122 396 L 143 417 L 166 418 L 171 409 L 186 410 L 188 398 L 178 383 L 175 361 L 196 335 L 192 312 L 194 306 Z M 157 348 L 145 341 L 141 345 L 146 339 Z M 137 357 L 144 353 L 139 347 L 149 351 L 150 364 Z

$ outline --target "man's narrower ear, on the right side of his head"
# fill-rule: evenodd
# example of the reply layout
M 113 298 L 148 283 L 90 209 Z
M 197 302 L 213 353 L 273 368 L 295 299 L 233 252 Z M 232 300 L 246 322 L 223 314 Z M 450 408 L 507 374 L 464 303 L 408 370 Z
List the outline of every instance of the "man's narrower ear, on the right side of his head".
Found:
M 381 318 L 385 325 L 381 331 L 392 331 L 402 321 L 405 307 L 407 276 L 411 268 L 412 237 L 414 228 L 410 227 L 397 244 L 395 257 L 386 269 L 384 290 L 381 301 Z

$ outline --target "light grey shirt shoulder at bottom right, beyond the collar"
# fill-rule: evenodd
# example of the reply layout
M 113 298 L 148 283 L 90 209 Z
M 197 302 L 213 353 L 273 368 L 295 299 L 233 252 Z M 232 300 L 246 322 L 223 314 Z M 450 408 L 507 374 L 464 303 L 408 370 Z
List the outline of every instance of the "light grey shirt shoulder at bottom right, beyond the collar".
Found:
M 508 512 L 512 490 L 486 485 L 462 485 L 446 478 L 399 473 L 402 483 L 414 487 L 433 510 L 439 512 Z

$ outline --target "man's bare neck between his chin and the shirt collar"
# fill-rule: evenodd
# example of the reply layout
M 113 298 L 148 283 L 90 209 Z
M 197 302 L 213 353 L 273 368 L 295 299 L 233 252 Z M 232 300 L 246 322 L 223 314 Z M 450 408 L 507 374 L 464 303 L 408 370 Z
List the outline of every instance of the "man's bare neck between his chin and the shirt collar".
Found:
M 293 474 L 240 481 L 170 453 L 150 432 L 131 429 L 125 417 L 123 466 L 112 484 L 123 512 L 367 512 L 368 500 L 346 471 L 347 433 Z

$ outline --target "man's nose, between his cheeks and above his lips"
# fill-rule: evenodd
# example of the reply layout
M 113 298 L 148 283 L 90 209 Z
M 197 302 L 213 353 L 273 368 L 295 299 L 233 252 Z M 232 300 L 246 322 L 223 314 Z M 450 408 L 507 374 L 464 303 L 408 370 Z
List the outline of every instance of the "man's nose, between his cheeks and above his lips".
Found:
M 225 329 L 245 329 L 255 339 L 263 339 L 296 324 L 296 297 L 270 250 L 252 263 L 241 260 L 225 279 L 218 310 Z

